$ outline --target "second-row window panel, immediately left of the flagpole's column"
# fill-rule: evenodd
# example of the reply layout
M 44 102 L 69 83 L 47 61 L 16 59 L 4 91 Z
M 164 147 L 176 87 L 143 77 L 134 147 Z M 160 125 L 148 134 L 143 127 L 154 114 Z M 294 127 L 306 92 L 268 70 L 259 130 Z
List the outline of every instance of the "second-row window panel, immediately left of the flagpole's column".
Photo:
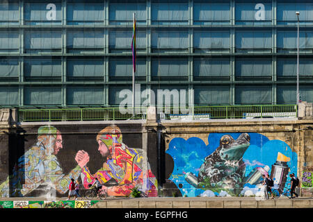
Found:
M 77 53 L 81 51 L 103 51 L 104 31 L 93 28 L 75 29 L 67 31 L 67 51 Z

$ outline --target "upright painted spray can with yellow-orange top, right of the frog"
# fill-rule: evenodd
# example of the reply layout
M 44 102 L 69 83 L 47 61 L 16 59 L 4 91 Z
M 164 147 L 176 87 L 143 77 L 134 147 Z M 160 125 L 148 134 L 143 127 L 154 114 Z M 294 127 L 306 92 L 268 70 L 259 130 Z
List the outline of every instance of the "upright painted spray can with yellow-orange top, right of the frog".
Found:
M 274 180 L 274 185 L 278 185 L 280 189 L 284 189 L 284 185 L 287 181 L 287 176 L 289 172 L 289 167 L 287 162 L 290 158 L 282 155 L 278 152 L 278 157 L 276 162 L 272 165 L 271 178 Z

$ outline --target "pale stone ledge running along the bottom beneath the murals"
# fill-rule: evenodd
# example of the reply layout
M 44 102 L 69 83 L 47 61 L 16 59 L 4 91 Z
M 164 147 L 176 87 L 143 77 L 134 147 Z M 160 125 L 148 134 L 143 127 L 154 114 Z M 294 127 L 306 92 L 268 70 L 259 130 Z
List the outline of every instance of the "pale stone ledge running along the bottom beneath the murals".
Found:
M 67 198 L 56 198 L 66 200 Z M 47 198 L 0 198 L 0 200 L 43 201 Z M 73 200 L 73 198 L 71 198 Z M 83 200 L 87 200 L 83 198 Z M 94 199 L 99 200 L 99 199 Z M 162 198 L 107 198 L 93 208 L 313 208 L 313 197 L 262 200 L 255 197 L 162 197 Z

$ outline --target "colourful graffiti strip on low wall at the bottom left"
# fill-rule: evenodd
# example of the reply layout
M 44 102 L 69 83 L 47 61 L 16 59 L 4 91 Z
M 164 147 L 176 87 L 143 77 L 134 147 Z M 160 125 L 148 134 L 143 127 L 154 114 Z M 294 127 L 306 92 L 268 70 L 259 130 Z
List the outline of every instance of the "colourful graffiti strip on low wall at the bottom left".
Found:
M 0 208 L 89 208 L 97 200 L 59 200 L 59 201 L 0 201 Z

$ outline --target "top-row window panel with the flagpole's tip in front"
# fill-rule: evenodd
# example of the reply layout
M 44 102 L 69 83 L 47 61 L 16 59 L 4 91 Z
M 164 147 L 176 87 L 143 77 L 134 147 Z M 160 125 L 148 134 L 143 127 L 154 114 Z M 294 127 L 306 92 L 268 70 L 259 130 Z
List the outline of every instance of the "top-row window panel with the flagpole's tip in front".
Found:
M 147 10 L 144 3 L 110 3 L 109 23 L 132 24 L 133 13 L 136 14 L 137 24 L 146 23 Z

